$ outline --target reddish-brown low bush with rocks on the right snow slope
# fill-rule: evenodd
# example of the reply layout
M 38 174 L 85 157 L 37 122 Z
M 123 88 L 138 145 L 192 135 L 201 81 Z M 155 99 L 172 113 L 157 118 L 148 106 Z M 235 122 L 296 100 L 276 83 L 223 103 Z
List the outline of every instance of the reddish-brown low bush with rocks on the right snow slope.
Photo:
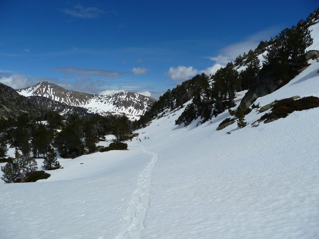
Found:
M 303 97 L 297 100 L 293 100 L 292 98 L 281 99 L 273 105 L 270 113 L 264 114 L 258 121 L 265 120 L 264 123 L 269 123 L 279 118 L 286 118 L 294 111 L 308 110 L 316 107 L 319 107 L 319 98 L 315 96 Z

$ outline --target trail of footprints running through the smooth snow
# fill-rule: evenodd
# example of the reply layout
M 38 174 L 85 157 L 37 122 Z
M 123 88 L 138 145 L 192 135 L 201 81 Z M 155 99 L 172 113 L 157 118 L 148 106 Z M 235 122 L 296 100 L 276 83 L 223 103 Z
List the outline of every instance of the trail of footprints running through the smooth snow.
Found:
M 157 161 L 157 153 L 146 151 L 144 146 L 142 146 L 142 149 L 144 153 L 151 155 L 151 160 L 137 178 L 137 189 L 133 192 L 127 215 L 122 217 L 122 220 L 125 221 L 125 227 L 116 236 L 116 239 L 140 239 L 145 228 L 144 222 L 147 209 L 150 207 L 151 175 L 154 164 Z

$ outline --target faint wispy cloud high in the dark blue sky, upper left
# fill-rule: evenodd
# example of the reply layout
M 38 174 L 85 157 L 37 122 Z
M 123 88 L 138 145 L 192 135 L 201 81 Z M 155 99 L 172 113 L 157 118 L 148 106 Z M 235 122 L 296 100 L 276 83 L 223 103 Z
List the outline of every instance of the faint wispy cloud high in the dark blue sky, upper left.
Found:
M 72 9 L 64 8 L 61 9 L 67 15 L 70 15 L 74 18 L 98 18 L 104 11 L 96 8 L 96 7 L 83 7 L 82 5 L 76 5 Z

